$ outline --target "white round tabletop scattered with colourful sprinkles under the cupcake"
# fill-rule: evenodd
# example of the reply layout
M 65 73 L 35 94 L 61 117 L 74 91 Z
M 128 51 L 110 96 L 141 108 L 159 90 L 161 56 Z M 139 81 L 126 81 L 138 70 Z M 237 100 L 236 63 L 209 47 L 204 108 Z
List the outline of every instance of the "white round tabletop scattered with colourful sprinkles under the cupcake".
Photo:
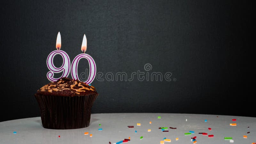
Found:
M 161 119 L 157 116 L 161 116 Z M 207 122 L 204 122 L 205 119 Z M 236 122 L 232 119 L 236 119 Z M 141 126 L 137 126 L 137 123 Z M 237 126 L 230 126 L 230 123 L 236 123 Z M 128 128 L 128 125 L 134 125 L 134 128 Z M 169 128 L 169 132 L 162 132 L 159 127 L 177 129 Z M 212 131 L 208 130 L 209 127 Z M 185 136 L 184 133 L 189 131 L 195 131 L 195 134 Z M 84 135 L 84 132 L 89 132 L 92 137 Z M 213 134 L 214 137 L 208 138 L 198 132 Z M 247 135 L 247 139 L 243 135 Z M 143 136 L 142 140 L 140 136 Z M 127 142 L 130 144 L 160 144 L 165 137 L 171 139 L 171 143 L 193 144 L 191 137 L 194 136 L 197 137 L 197 144 L 230 143 L 224 137 L 232 137 L 234 143 L 251 144 L 256 141 L 256 117 L 166 113 L 92 114 L 89 127 L 72 130 L 45 129 L 40 117 L 0 122 L 0 144 L 108 144 L 109 141 L 113 144 L 128 137 L 131 137 Z M 176 138 L 179 140 L 176 141 Z

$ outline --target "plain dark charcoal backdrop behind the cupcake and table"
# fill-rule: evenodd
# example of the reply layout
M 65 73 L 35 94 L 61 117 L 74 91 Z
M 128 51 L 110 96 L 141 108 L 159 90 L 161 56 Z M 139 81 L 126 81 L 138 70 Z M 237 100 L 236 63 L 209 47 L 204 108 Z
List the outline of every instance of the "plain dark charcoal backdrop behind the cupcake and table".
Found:
M 83 35 L 97 72 L 171 72 L 172 81 L 93 81 L 92 113 L 253 116 L 252 8 L 246 1 L 12 1 L 1 4 L 1 119 L 40 116 L 60 31 L 71 62 Z M 56 57 L 56 65 L 61 65 Z M 81 60 L 79 73 L 88 68 Z M 104 77 L 103 76 L 103 77 Z M 71 78 L 71 75 L 69 75 Z

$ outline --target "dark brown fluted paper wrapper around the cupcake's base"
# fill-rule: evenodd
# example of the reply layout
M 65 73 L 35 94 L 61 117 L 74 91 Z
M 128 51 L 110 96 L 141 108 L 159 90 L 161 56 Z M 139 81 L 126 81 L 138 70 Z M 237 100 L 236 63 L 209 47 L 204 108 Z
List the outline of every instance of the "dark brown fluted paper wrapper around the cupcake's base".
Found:
M 89 96 L 35 95 L 41 120 L 47 129 L 78 129 L 88 127 L 91 108 L 98 94 Z

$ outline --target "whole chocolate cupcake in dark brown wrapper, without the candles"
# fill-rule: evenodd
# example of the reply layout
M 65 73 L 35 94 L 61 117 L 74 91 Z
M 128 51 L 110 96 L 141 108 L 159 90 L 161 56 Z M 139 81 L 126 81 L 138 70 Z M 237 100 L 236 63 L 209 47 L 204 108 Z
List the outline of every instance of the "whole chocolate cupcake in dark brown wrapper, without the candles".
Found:
M 43 127 L 47 129 L 88 127 L 92 104 L 97 96 L 98 93 L 93 86 L 66 77 L 44 85 L 35 94 Z

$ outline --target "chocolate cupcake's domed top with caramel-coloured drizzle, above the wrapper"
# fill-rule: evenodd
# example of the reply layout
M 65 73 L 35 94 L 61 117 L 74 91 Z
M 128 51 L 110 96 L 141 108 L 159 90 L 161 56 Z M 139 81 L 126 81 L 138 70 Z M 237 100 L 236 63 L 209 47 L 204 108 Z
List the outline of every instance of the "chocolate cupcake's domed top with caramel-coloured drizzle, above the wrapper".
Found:
M 56 82 L 44 85 L 36 94 L 51 95 L 51 96 L 86 96 L 98 94 L 93 86 L 85 84 L 79 80 L 72 80 L 67 77 L 62 77 Z

